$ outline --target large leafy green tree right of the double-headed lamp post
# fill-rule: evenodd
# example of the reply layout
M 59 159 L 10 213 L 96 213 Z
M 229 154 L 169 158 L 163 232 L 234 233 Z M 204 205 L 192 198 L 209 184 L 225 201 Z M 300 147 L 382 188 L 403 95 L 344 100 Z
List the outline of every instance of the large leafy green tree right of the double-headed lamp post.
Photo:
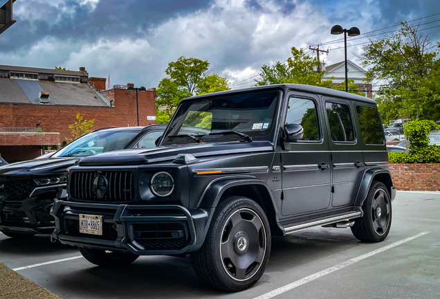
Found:
M 432 119 L 440 116 L 432 107 L 439 100 L 439 44 L 432 45 L 418 26 L 403 22 L 387 39 L 371 41 L 358 58 L 369 70 L 366 80 L 385 80 L 375 96 L 385 122 L 396 118 Z M 437 81 L 437 82 L 436 82 Z

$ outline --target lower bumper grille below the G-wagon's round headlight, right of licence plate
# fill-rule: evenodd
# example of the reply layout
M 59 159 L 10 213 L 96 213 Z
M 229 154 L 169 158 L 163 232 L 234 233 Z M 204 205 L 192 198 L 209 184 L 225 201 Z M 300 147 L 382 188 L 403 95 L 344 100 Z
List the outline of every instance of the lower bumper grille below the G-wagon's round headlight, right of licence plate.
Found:
M 135 241 L 148 249 L 179 249 L 187 244 L 183 224 L 134 224 Z

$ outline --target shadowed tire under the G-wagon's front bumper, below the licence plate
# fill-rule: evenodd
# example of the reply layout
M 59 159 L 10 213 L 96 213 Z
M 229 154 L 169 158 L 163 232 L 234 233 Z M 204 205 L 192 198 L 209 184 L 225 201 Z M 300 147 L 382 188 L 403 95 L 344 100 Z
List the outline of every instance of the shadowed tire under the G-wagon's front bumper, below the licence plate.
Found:
M 104 268 L 120 268 L 134 262 L 139 255 L 120 253 L 118 251 L 102 251 L 98 249 L 79 247 L 82 256 L 92 264 Z

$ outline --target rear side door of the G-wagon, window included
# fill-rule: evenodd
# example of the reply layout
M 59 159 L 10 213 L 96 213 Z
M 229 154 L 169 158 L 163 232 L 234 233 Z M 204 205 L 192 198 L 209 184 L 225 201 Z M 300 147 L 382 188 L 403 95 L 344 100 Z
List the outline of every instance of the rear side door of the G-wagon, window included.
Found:
M 362 179 L 364 157 L 354 126 L 354 107 L 348 100 L 324 97 L 325 116 L 329 128 L 333 207 L 354 202 Z

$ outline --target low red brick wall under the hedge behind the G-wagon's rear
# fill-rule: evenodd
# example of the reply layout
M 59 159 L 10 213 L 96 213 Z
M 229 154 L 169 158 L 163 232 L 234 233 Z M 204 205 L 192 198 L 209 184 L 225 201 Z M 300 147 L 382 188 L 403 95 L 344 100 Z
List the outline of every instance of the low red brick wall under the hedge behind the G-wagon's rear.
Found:
M 389 163 L 394 186 L 402 191 L 440 191 L 440 164 Z

